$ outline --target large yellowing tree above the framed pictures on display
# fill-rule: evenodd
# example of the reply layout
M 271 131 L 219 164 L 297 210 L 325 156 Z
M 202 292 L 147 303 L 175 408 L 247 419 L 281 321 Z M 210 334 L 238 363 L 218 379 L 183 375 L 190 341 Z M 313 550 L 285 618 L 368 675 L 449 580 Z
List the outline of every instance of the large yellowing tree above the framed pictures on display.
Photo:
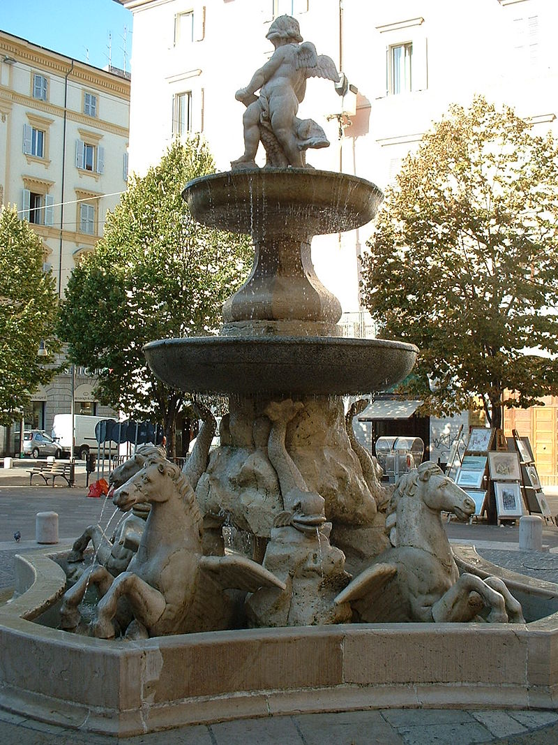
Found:
M 387 191 L 362 288 L 381 335 L 419 347 L 405 392 L 424 396 L 431 413 L 481 399 L 499 428 L 503 405 L 527 408 L 557 393 L 548 356 L 558 352 L 551 134 L 535 136 L 513 110 L 481 97 L 452 106 Z

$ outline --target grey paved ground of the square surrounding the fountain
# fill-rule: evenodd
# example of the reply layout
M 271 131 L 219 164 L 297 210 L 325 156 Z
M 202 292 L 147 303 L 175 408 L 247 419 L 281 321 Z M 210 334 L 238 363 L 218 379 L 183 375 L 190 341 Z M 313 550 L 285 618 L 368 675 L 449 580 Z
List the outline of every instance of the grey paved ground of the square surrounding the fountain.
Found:
M 86 497 L 83 465 L 77 467 L 77 486 L 29 486 L 25 465 L 11 472 L 0 469 L 0 588 L 13 585 L 13 556 L 37 548 L 35 516 L 59 515 L 60 540 L 71 539 L 83 527 L 106 524 L 114 508 L 104 500 Z M 558 489 L 545 489 L 554 514 Z M 102 518 L 100 518 L 102 513 Z M 114 524 L 113 519 L 112 524 Z M 13 533 L 22 533 L 19 543 Z M 451 522 L 450 540 L 474 543 L 478 552 L 515 571 L 558 583 L 558 528 L 545 527 L 549 550 L 520 552 L 519 528 L 497 527 L 479 521 Z M 106 745 L 114 738 L 74 732 L 0 711 L 0 745 Z M 338 714 L 300 714 L 289 717 L 236 720 L 211 726 L 190 726 L 168 732 L 124 738 L 137 745 L 556 745 L 558 711 L 472 711 L 454 709 L 385 709 Z

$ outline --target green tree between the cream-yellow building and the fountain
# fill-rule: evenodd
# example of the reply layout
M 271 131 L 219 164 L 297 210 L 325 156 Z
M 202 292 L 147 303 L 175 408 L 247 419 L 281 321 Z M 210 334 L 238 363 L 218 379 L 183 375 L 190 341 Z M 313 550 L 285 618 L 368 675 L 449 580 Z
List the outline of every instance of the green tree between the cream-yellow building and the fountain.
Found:
M 142 346 L 217 332 L 251 257 L 247 238 L 196 223 L 182 200 L 188 180 L 212 172 L 207 145 L 193 137 L 174 142 L 145 177 L 132 176 L 61 308 L 60 335 L 72 361 L 97 370 L 100 401 L 163 424 L 171 455 L 176 417 L 191 399 L 155 378 Z

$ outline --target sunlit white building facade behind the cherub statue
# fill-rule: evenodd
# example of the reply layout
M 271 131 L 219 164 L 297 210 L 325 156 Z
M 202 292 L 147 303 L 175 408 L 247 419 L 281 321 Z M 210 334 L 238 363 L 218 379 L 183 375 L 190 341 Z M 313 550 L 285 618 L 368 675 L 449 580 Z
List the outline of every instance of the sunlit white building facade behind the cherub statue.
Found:
M 318 121 L 331 142 L 307 152 L 315 168 L 355 174 L 383 189 L 449 104 L 466 106 L 476 94 L 515 108 L 535 133 L 558 134 L 556 0 L 121 2 L 133 13 L 129 157 L 140 174 L 187 130 L 202 132 L 217 168 L 228 170 L 243 151 L 243 104 L 234 94 L 271 56 L 266 34 L 283 13 L 298 19 L 302 37 L 330 55 L 350 84 L 340 96 L 327 80 L 308 81 L 300 115 Z M 359 256 L 370 229 L 312 243 L 316 272 L 339 297 L 347 333 L 369 326 Z M 450 424 L 434 422 L 434 460 L 446 459 L 461 424 L 466 432 L 466 414 Z M 551 437 L 554 456 L 545 469 L 556 475 L 555 425 Z

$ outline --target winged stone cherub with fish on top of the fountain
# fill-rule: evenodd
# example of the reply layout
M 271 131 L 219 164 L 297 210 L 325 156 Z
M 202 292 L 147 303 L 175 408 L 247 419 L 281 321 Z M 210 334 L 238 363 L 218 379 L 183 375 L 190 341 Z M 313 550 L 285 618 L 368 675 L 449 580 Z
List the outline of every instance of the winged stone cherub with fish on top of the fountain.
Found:
M 319 124 L 297 117 L 298 104 L 304 98 L 308 77 L 339 83 L 339 73 L 331 57 L 317 54 L 311 42 L 302 42 L 298 21 L 291 16 L 276 18 L 266 38 L 275 52 L 235 96 L 246 106 L 245 151 L 231 162 L 231 168 L 255 168 L 260 142 L 266 150 L 266 165 L 309 168 L 307 148 L 327 148 L 330 143 Z

